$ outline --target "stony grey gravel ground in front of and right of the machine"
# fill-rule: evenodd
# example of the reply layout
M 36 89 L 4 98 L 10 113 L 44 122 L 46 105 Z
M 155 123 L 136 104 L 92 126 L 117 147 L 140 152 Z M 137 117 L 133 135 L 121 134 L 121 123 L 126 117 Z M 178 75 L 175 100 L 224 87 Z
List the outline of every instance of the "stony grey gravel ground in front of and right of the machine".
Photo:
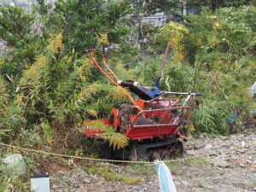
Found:
M 256 191 L 256 145 L 236 149 L 253 143 L 256 144 L 256 133 L 191 139 L 186 143 L 186 157 L 212 155 L 166 164 L 172 172 L 177 191 Z M 224 154 L 215 153 L 227 149 L 232 150 Z M 74 165 L 71 171 L 50 175 L 51 191 L 160 191 L 154 166 L 90 163 L 93 164 Z M 141 177 L 143 181 L 127 184 L 119 179 L 107 180 L 101 174 L 91 172 L 102 167 L 113 175 Z

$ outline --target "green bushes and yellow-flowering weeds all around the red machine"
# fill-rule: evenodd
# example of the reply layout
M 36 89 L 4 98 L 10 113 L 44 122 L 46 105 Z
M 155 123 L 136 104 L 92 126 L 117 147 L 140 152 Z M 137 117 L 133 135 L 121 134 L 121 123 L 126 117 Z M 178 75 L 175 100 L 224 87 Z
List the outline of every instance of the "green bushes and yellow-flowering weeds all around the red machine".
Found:
M 198 97 L 200 107 L 192 110 L 189 131 L 218 135 L 246 129 L 256 107 L 247 90 L 256 76 L 253 1 L 223 1 L 218 6 L 207 1 L 209 8 L 184 16 L 190 22 L 171 21 L 162 28 L 132 26 L 124 17 L 165 10 L 156 9 L 157 0 L 147 9 L 140 8 L 142 1 L 59 0 L 51 11 L 38 2 L 31 14 L 9 6 L 0 9 L 0 38 L 11 48 L 0 58 L 0 142 L 96 156 L 91 152 L 96 144 L 82 137 L 84 120 L 108 118 L 113 103 L 125 101 L 124 91 L 109 84 L 89 59 L 96 35 L 99 42 L 108 37 L 110 44 L 119 44 L 108 49 L 107 58 L 120 79 L 148 86 L 154 84 L 170 44 L 160 89 L 204 94 Z M 175 8 L 178 2 L 169 5 Z M 40 30 L 31 27 L 36 21 Z M 138 35 L 140 49 L 129 42 L 131 32 Z M 102 54 L 100 46 L 96 56 Z M 106 130 L 102 137 L 117 138 L 109 127 Z M 113 143 L 117 148 L 127 142 L 118 138 Z M 38 166 L 32 159 L 26 158 L 28 168 Z M 102 172 L 107 177 L 107 171 Z M 1 179 L 0 190 L 8 189 Z

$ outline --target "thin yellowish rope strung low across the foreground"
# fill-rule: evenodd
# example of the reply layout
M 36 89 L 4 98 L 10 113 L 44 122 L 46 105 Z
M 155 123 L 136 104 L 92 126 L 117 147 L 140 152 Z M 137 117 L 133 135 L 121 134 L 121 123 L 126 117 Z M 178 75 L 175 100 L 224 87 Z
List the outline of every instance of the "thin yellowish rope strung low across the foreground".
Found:
M 36 153 L 36 154 L 47 154 L 50 156 L 59 156 L 59 157 L 65 157 L 65 158 L 71 158 L 71 159 L 79 159 L 79 160 L 93 160 L 93 161 L 102 161 L 102 162 L 110 162 L 110 163 L 136 163 L 136 164 L 152 164 L 154 165 L 154 162 L 152 161 L 145 161 L 145 160 L 106 160 L 106 159 L 97 159 L 97 158 L 90 158 L 90 157 L 81 157 L 81 156 L 73 156 L 73 155 L 67 155 L 67 154 L 55 154 L 55 153 L 50 153 L 50 152 L 46 152 L 43 150 L 36 150 L 36 149 L 31 149 L 31 148 L 22 148 L 22 147 L 18 147 L 18 146 L 14 146 L 14 145 L 9 145 L 9 144 L 5 144 L 5 143 L 0 143 L 1 146 L 5 147 L 5 148 L 14 148 L 17 149 L 19 151 L 28 151 L 31 153 Z M 234 147 L 234 148 L 229 148 L 226 150 L 219 150 L 219 151 L 214 151 L 212 153 L 208 153 L 208 154 L 201 154 L 201 155 L 195 155 L 195 156 L 189 156 L 189 157 L 184 157 L 184 158 L 179 158 L 179 159 L 175 159 L 175 160 L 162 160 L 162 162 L 165 163 L 171 163 L 171 162 L 177 162 L 177 161 L 183 161 L 183 160 L 191 160 L 191 159 L 197 159 L 197 158 L 210 158 L 212 155 L 216 155 L 216 154 L 228 154 L 231 151 L 235 151 L 235 150 L 239 150 L 242 148 L 250 148 L 252 146 L 256 146 L 256 143 L 251 143 L 251 144 L 247 144 L 244 147 Z

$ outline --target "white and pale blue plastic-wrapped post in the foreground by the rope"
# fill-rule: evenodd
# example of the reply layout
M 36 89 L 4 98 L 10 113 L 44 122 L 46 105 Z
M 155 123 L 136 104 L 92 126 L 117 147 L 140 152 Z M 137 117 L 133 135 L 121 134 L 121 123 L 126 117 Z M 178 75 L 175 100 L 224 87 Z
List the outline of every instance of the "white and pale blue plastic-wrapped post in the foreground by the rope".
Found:
M 163 161 L 154 161 L 156 172 L 158 174 L 161 192 L 177 192 L 173 183 L 172 174 Z

